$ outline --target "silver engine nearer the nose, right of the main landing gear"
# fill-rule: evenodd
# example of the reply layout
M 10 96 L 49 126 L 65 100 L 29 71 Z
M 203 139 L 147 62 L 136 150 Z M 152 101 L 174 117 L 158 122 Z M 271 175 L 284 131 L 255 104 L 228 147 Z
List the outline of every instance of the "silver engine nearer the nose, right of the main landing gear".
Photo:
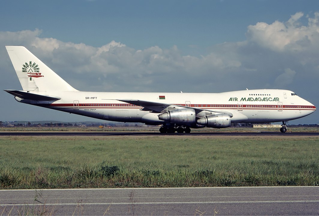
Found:
M 230 116 L 227 114 L 207 115 L 197 119 L 197 124 L 205 125 L 208 128 L 228 128 L 230 127 Z

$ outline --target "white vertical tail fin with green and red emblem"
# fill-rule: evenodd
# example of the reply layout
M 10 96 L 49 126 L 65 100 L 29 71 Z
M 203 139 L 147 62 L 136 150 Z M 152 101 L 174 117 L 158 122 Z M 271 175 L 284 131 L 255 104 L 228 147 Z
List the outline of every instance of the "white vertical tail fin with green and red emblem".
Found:
M 6 48 L 24 91 L 78 91 L 25 47 Z

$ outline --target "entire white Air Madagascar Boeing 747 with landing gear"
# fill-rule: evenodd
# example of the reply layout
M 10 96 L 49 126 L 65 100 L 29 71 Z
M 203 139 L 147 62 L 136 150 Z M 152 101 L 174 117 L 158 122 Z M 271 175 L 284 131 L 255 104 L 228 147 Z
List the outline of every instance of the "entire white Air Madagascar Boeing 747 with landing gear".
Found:
M 255 89 L 223 93 L 82 92 L 70 86 L 29 50 L 6 46 L 22 86 L 4 90 L 16 101 L 115 122 L 161 125 L 160 133 L 191 128 L 227 128 L 231 123 L 286 122 L 316 107 L 289 90 Z

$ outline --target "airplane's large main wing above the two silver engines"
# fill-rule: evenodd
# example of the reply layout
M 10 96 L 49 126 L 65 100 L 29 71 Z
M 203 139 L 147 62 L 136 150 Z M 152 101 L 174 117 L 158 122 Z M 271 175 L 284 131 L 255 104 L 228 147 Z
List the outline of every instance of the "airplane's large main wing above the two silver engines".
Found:
M 195 110 L 196 115 L 200 112 L 206 111 L 206 112 L 211 112 L 211 113 L 227 114 L 230 117 L 233 117 L 233 114 L 231 112 L 227 112 L 227 111 L 216 111 L 216 110 L 211 110 L 211 109 L 201 109 L 201 108 L 197 108 L 197 107 L 186 107 L 186 106 L 182 106 L 182 105 L 159 103 L 159 102 L 152 102 L 152 101 L 141 101 L 141 100 L 130 100 L 130 99 L 128 99 L 128 100 L 117 99 L 117 100 L 123 101 L 125 103 L 130 103 L 130 104 L 144 107 L 142 109 L 144 111 L 152 111 L 152 112 L 157 112 L 157 113 L 164 113 L 164 112 L 167 112 L 168 110 L 171 110 L 171 109 L 192 108 Z

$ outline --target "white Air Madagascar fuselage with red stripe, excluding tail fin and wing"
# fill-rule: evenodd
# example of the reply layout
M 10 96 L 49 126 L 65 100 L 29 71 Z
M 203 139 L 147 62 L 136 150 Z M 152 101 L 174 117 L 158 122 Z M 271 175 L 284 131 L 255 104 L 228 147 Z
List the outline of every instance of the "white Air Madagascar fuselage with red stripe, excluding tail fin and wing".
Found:
M 233 114 L 232 123 L 281 122 L 298 119 L 313 113 L 316 108 L 289 90 L 258 89 L 225 93 L 121 93 L 121 92 L 39 92 L 61 97 L 53 103 L 34 104 L 46 108 L 117 122 L 140 122 L 159 125 L 159 113 L 118 100 L 134 99 L 227 111 Z

